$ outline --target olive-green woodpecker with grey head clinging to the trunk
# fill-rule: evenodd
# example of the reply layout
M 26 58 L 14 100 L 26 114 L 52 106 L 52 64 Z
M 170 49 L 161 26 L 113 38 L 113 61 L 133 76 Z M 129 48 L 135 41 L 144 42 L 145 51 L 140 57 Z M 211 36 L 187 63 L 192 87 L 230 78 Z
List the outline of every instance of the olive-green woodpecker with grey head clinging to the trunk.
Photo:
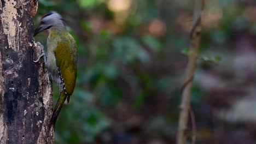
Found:
M 46 58 L 44 58 L 45 65 L 49 71 L 50 79 L 56 82 L 59 87 L 59 99 L 50 119 L 50 124 L 55 125 L 62 105 L 66 99 L 69 103 L 69 98 L 74 91 L 78 52 L 74 38 L 67 31 L 62 16 L 56 11 L 50 11 L 42 16 L 38 28 L 34 31 L 34 36 L 45 30 L 49 34 Z M 44 51 L 34 62 L 38 62 L 42 56 L 44 56 Z

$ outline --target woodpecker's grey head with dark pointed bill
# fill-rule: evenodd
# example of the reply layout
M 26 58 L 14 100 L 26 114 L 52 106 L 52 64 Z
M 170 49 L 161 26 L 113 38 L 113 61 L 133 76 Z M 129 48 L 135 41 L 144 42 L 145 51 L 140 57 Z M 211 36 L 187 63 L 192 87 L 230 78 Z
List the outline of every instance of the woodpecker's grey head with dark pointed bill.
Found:
M 42 16 L 38 28 L 34 31 L 34 36 L 44 30 L 49 30 L 50 28 L 65 28 L 65 22 L 63 21 L 62 16 L 56 11 L 50 11 Z

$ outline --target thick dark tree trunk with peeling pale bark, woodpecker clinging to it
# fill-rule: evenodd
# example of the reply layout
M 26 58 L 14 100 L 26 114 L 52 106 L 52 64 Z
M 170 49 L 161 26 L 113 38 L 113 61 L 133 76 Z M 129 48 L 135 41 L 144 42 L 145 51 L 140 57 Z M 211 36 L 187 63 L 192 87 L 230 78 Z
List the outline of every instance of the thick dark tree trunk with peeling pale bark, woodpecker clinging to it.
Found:
M 54 143 L 52 90 L 34 42 L 37 0 L 0 1 L 0 143 Z

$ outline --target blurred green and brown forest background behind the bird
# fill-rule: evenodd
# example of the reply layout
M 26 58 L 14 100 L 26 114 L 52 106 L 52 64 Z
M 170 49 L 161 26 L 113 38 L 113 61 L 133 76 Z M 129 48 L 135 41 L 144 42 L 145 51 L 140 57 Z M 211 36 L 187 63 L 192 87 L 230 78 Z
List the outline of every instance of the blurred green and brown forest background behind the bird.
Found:
M 174 143 L 193 8 L 190 0 L 39 0 L 35 27 L 56 10 L 79 51 L 56 143 Z M 255 143 L 256 2 L 206 0 L 202 25 L 196 143 Z M 46 37 L 36 40 L 46 47 Z M 55 102 L 57 94 L 55 85 Z

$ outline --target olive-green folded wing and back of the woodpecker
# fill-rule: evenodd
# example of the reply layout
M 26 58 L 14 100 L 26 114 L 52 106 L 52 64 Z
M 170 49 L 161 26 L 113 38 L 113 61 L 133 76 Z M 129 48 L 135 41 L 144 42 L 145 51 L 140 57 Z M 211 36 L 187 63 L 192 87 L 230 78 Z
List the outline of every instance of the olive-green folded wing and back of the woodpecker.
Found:
M 61 76 L 64 79 L 66 92 L 71 95 L 74 91 L 77 77 L 77 45 L 69 33 L 63 35 L 61 39 L 57 42 L 54 53 L 57 67 L 59 67 Z

